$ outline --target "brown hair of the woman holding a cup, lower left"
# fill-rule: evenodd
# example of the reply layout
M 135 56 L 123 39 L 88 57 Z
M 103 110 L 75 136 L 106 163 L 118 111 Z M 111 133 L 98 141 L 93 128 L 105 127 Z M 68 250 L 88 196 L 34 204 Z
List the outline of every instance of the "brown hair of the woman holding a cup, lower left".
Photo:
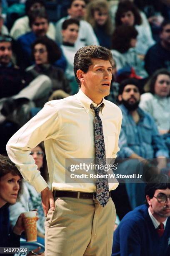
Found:
M 21 173 L 19 172 L 17 166 L 12 161 L 10 161 L 9 157 L 0 155 L 0 179 L 9 173 L 11 173 L 14 176 L 18 175 L 21 177 L 21 179 L 23 178 Z M 22 192 L 23 192 L 23 184 L 22 184 L 22 182 L 20 182 L 20 189 L 18 192 L 18 200 L 19 200 Z

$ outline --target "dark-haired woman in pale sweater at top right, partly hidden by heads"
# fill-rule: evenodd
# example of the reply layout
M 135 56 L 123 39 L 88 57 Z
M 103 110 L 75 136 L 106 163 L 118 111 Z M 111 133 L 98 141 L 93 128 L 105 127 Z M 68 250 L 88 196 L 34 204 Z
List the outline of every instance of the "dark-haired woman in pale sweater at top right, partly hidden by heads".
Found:
M 115 15 L 115 26 L 122 24 L 135 26 L 138 31 L 136 50 L 138 54 L 145 55 L 150 46 L 154 44 L 151 33 L 142 25 L 138 8 L 129 0 L 120 2 Z

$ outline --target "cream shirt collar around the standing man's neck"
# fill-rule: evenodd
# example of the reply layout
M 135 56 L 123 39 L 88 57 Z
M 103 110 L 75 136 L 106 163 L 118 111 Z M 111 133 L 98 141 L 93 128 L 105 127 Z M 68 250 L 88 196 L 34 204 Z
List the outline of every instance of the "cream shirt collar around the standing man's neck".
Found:
M 77 93 L 77 98 L 80 100 L 81 104 L 85 108 L 85 111 L 88 113 L 90 111 L 90 105 L 92 104 L 95 108 L 98 108 L 102 103 L 104 104 L 103 108 L 105 107 L 105 101 L 104 98 L 102 99 L 102 102 L 97 105 L 95 102 L 93 102 L 89 97 L 87 97 L 84 92 L 82 92 L 81 88 Z M 101 109 L 101 113 L 103 114 L 103 108 Z

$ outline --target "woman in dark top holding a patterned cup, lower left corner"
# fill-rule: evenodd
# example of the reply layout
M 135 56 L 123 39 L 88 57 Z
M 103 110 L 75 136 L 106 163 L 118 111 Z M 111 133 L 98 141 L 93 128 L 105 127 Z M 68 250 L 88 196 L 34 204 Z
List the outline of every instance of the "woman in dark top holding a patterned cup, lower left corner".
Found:
M 7 156 L 0 155 L 0 247 L 20 247 L 24 231 L 23 215 L 18 215 L 10 231 L 9 205 L 20 199 L 22 176 Z

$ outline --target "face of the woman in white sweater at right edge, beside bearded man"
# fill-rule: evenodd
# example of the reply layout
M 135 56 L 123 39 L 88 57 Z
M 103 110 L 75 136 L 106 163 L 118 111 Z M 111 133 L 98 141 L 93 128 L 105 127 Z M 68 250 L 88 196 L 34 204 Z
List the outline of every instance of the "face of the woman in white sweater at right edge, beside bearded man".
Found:
M 155 94 L 167 97 L 170 93 L 170 77 L 167 74 L 158 75 L 155 82 Z

